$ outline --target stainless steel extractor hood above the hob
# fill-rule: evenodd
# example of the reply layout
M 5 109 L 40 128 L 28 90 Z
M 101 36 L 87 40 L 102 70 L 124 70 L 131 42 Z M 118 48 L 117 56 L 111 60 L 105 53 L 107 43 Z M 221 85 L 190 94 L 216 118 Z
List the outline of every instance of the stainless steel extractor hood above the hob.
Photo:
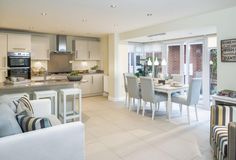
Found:
M 65 35 L 57 35 L 56 37 L 56 45 L 57 50 L 55 53 L 70 53 L 71 51 L 67 48 L 67 40 Z

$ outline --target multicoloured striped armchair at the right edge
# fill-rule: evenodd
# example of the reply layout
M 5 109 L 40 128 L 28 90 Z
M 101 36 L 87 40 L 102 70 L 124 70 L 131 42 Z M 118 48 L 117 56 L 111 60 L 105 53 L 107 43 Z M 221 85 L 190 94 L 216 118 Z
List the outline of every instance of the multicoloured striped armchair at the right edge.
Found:
M 211 106 L 210 144 L 217 160 L 236 160 L 236 106 Z

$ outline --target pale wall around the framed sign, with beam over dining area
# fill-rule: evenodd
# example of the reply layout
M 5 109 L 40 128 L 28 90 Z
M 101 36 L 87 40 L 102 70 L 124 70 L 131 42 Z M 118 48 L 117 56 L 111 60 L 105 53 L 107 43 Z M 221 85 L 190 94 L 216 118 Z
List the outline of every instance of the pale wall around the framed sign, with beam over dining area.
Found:
M 162 23 L 120 34 L 121 40 L 150 34 L 213 26 L 217 28 L 218 89 L 236 90 L 236 63 L 221 62 L 220 41 L 236 38 L 236 7 Z M 203 75 L 204 76 L 204 75 Z

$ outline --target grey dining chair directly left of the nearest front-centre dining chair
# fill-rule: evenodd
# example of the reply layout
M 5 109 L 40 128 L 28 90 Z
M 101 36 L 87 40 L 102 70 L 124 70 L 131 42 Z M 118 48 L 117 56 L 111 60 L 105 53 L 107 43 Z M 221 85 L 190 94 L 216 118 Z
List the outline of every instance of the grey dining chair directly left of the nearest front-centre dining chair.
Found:
M 142 99 L 138 79 L 136 76 L 131 76 L 131 75 L 126 76 L 126 78 L 127 78 L 127 90 L 129 94 L 128 98 L 129 111 L 131 110 L 130 106 L 131 98 L 133 99 L 133 106 L 135 106 L 135 99 L 138 99 L 139 100 L 139 105 L 137 106 L 137 114 L 138 114 L 139 108 L 141 107 L 141 99 Z

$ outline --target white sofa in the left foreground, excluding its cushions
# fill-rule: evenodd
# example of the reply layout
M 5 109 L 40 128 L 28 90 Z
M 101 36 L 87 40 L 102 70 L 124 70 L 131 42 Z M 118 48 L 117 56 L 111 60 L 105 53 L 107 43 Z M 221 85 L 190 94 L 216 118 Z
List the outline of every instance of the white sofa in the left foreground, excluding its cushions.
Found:
M 35 117 L 53 117 L 49 99 L 32 100 L 31 104 Z M 0 112 L 1 107 L 7 109 L 6 103 L 0 104 Z M 1 137 L 0 159 L 84 160 L 84 125 L 81 122 L 58 124 L 55 116 L 52 121 L 55 125 L 49 128 Z

